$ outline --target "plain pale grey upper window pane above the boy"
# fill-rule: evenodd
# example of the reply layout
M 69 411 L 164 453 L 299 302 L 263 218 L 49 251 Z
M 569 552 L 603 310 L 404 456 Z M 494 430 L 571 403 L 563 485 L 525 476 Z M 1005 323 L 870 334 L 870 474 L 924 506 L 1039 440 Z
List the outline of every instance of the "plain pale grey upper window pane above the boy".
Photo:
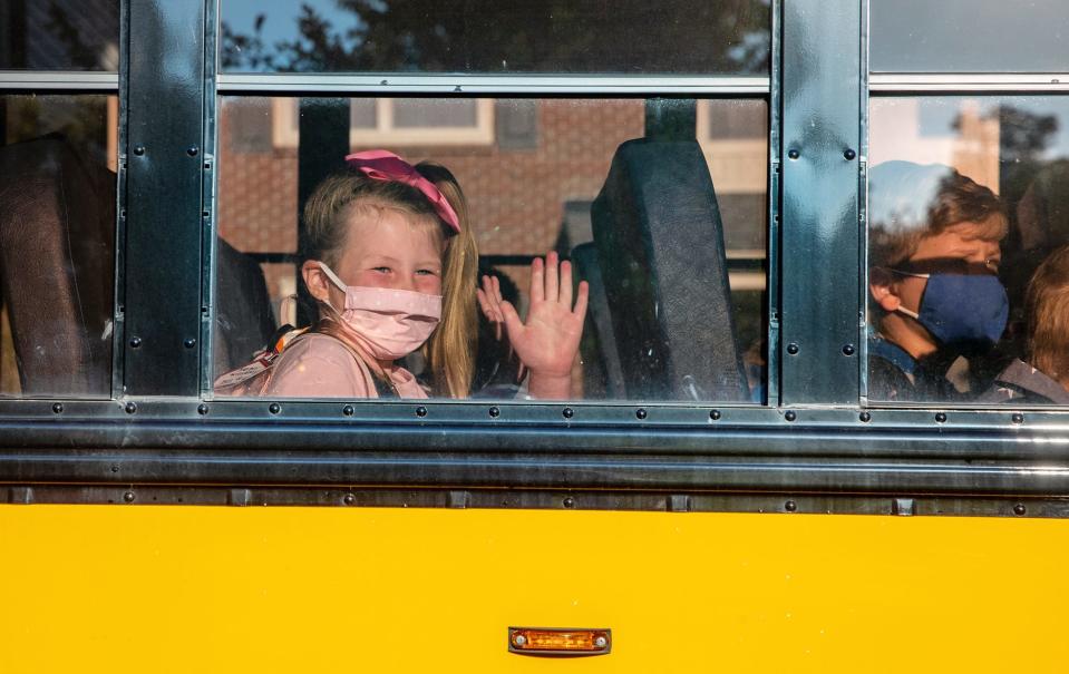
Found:
M 873 0 L 877 72 L 1065 72 L 1062 0 Z

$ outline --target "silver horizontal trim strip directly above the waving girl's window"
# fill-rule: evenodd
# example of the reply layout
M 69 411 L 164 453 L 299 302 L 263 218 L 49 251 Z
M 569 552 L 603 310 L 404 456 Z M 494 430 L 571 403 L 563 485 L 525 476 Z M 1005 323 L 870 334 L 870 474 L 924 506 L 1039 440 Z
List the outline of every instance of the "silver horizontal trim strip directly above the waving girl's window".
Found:
M 764 96 L 767 77 L 561 75 L 218 75 L 221 94 L 731 94 Z

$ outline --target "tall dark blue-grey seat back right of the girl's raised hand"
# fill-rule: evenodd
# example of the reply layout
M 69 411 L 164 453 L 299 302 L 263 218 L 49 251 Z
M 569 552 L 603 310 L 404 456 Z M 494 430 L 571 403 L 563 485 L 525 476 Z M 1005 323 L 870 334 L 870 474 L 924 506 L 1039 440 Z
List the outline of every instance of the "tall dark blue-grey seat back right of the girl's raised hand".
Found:
M 694 140 L 629 140 L 591 206 L 629 399 L 748 401 L 720 211 Z

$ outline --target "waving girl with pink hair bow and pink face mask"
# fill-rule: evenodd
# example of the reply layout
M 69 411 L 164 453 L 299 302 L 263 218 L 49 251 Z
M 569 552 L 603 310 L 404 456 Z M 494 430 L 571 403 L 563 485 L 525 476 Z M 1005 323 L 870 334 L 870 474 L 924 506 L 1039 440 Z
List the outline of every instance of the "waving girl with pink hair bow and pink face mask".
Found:
M 263 394 L 426 398 L 396 361 L 420 349 L 439 322 L 445 328 L 467 321 L 472 304 L 464 295 L 474 284 L 449 281 L 463 276 L 458 268 L 470 252 L 458 236 L 463 221 L 434 183 L 397 155 L 371 150 L 347 163 L 349 169 L 323 180 L 304 208 L 308 258 L 301 274 L 321 320 L 285 346 Z M 571 395 L 587 299 L 581 283 L 573 310 L 571 276 L 568 263 L 558 265 L 551 253 L 532 263 L 526 322 L 501 303 L 533 398 Z M 443 332 L 429 345 L 436 389 L 453 397 L 466 393 L 464 369 L 449 364 L 470 358 L 463 334 Z

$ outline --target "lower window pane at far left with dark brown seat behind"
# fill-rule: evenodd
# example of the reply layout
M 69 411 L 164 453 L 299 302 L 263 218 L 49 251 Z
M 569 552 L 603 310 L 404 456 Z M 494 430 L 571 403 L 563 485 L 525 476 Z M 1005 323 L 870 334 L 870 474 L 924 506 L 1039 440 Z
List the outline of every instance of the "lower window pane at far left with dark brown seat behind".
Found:
M 0 97 L 0 395 L 111 389 L 109 96 Z

